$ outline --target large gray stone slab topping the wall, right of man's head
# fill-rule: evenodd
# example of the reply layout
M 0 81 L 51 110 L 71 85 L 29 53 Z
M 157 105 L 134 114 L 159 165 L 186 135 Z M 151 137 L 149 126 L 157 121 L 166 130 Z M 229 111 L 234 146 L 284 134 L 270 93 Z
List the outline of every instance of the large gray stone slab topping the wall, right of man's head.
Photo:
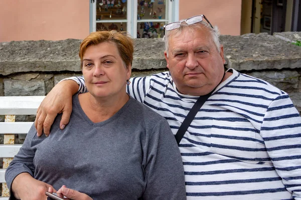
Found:
M 301 47 L 266 33 L 221 36 L 227 68 L 251 71 L 301 68 Z

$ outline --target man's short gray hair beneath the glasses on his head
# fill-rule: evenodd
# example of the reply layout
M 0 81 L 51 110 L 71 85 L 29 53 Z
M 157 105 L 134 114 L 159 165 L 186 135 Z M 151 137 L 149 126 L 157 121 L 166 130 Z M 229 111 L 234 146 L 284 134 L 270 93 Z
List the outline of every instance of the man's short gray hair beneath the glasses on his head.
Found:
M 211 34 L 211 39 L 214 42 L 218 53 L 220 53 L 220 47 L 221 47 L 220 42 L 219 42 L 220 32 L 219 32 L 217 26 L 215 26 L 212 29 L 211 26 L 208 23 L 202 21 L 200 23 L 196 23 L 196 24 L 193 24 L 193 25 L 188 25 L 186 23 L 183 23 L 183 24 L 181 24 L 180 28 L 172 30 L 172 31 L 165 32 L 164 42 L 165 42 L 165 51 L 167 53 L 167 56 L 168 56 L 168 49 L 169 49 L 168 42 L 169 42 L 170 35 L 173 34 L 173 35 L 179 36 L 184 29 L 189 29 L 190 31 L 193 32 L 195 29 L 200 30 L 200 29 L 203 29 L 203 28 L 208 29 L 208 31 Z

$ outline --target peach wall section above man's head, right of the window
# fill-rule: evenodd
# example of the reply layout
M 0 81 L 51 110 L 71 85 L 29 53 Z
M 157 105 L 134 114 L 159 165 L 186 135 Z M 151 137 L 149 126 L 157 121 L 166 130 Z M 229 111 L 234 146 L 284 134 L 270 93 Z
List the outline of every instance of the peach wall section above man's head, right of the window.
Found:
M 241 0 L 180 0 L 180 20 L 201 14 L 218 26 L 222 35 L 240 35 Z

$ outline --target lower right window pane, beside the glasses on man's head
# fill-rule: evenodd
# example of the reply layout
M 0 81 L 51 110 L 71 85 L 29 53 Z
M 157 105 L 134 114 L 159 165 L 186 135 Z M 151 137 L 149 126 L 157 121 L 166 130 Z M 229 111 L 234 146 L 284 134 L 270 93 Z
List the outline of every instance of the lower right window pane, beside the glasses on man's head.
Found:
M 163 38 L 164 22 L 138 22 L 137 38 Z

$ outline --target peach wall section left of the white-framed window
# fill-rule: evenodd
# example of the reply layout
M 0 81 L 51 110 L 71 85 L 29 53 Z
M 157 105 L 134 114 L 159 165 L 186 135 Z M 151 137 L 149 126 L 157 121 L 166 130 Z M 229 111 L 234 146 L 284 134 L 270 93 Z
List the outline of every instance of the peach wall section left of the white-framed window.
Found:
M 84 39 L 89 0 L 0 0 L 0 42 Z

